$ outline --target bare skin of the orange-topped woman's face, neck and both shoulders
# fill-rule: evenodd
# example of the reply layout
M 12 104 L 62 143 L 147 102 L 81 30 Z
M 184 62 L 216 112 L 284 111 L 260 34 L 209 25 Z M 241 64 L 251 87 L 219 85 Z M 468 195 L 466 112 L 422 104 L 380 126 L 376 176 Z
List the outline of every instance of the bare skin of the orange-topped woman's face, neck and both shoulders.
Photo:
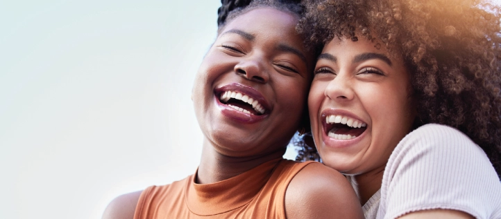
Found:
M 192 95 L 204 134 L 198 183 L 226 180 L 282 158 L 305 111 L 314 64 L 296 34 L 297 22 L 296 16 L 273 8 L 250 10 L 230 21 L 205 55 Z M 260 93 L 265 115 L 242 122 L 241 114 L 221 105 L 218 92 L 228 84 Z M 133 218 L 136 194 L 113 200 L 103 218 Z M 285 212 L 287 218 L 363 218 L 346 178 L 323 165 L 308 165 L 293 178 Z

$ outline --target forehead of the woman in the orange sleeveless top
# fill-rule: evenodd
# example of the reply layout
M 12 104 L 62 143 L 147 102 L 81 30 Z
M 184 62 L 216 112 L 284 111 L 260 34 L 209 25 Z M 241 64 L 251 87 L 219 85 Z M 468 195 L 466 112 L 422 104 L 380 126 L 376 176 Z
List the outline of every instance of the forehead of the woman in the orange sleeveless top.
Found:
M 255 8 L 232 19 L 221 32 L 228 30 L 244 30 L 259 38 L 283 37 L 300 40 L 296 33 L 298 18 L 291 13 L 275 8 Z

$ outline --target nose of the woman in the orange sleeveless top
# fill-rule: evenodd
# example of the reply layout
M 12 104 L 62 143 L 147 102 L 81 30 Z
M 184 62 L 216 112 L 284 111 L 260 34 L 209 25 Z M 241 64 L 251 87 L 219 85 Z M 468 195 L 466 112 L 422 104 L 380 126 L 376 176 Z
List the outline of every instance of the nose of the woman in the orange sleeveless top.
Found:
M 269 74 L 264 68 L 264 59 L 260 57 L 248 57 L 240 61 L 235 65 L 235 73 L 253 82 L 266 83 L 269 81 Z

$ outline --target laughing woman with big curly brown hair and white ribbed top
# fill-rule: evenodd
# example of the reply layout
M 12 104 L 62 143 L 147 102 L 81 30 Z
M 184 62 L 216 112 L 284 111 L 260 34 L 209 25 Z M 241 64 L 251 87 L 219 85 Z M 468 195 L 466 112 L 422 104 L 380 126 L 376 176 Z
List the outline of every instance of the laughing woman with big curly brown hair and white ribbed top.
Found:
M 366 218 L 501 218 L 500 8 L 472 0 L 324 0 L 309 93 L 316 158 Z

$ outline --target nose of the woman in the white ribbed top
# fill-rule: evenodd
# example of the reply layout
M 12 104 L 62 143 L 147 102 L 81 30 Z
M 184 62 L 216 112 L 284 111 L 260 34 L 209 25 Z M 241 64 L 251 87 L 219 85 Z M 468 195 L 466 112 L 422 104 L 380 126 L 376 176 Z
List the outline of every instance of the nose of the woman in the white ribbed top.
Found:
M 335 102 L 348 102 L 355 97 L 353 92 L 353 84 L 350 77 L 345 75 L 337 75 L 329 82 L 324 91 L 325 97 L 334 100 Z

